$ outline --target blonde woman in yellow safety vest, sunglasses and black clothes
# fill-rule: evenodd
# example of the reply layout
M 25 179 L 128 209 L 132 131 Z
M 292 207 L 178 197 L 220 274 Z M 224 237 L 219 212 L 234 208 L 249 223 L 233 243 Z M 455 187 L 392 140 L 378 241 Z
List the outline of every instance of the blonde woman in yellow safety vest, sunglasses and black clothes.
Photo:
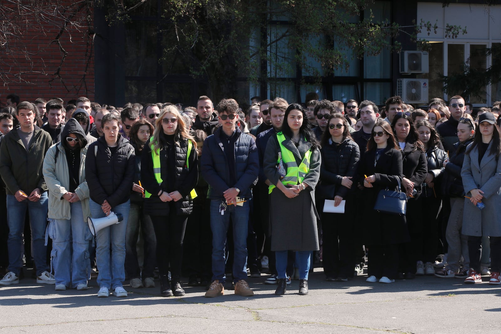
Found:
M 144 146 L 141 157 L 144 212 L 150 215 L 155 230 L 163 297 L 184 295 L 180 284 L 182 246 L 193 206 L 190 193 L 197 180 L 196 143 L 176 106 L 166 106 L 155 121 L 153 137 Z M 169 263 L 171 286 L 167 277 Z

